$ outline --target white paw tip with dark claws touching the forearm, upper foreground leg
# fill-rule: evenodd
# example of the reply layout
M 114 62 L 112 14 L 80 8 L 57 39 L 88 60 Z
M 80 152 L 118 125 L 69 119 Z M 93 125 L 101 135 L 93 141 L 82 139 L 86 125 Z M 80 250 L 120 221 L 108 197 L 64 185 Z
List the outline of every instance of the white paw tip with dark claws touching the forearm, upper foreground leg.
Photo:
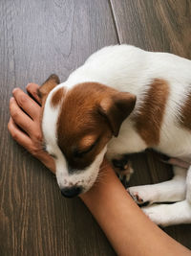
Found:
M 145 188 L 146 186 L 136 186 L 127 189 L 130 196 L 138 203 L 138 205 L 149 205 L 152 203 L 150 195 Z

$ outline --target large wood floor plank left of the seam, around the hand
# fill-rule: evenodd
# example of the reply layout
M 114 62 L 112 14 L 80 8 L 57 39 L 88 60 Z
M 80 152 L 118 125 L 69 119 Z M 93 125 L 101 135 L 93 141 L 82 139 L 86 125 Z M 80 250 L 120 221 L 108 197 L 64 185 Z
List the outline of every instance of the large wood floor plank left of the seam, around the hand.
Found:
M 117 43 L 111 9 L 97 0 L 0 1 L 0 255 L 115 255 L 80 201 L 7 130 L 15 86 L 61 81 L 97 49 Z

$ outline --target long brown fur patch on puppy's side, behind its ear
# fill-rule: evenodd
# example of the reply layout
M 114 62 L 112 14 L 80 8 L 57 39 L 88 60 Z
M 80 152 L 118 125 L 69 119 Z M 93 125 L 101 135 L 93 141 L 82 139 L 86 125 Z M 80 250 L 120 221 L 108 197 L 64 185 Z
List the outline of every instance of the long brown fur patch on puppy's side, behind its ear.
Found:
M 143 104 L 133 120 L 140 137 L 148 147 L 159 144 L 159 131 L 169 96 L 167 81 L 156 79 L 150 84 Z

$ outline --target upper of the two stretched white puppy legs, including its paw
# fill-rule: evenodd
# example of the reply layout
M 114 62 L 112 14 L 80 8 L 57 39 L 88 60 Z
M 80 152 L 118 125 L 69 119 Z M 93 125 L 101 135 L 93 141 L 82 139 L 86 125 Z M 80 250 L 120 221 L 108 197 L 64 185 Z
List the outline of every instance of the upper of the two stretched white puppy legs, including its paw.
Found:
M 174 166 L 174 177 L 153 185 L 136 186 L 128 189 L 130 195 L 139 204 L 171 202 L 185 199 L 187 171 Z

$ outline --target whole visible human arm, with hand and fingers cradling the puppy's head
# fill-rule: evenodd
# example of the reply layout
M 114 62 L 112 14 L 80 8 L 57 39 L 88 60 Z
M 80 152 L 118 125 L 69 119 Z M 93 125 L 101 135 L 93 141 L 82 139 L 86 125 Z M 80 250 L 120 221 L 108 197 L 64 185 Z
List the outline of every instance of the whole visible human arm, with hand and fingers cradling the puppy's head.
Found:
M 30 84 L 28 91 L 39 101 L 35 94 L 37 87 L 36 84 Z M 53 158 L 41 148 L 40 105 L 20 89 L 13 91 L 13 97 L 8 125 L 11 135 L 54 173 Z M 100 175 L 94 187 L 80 197 L 95 216 L 118 255 L 191 255 L 188 249 L 166 235 L 141 212 L 107 162 L 102 164 Z

